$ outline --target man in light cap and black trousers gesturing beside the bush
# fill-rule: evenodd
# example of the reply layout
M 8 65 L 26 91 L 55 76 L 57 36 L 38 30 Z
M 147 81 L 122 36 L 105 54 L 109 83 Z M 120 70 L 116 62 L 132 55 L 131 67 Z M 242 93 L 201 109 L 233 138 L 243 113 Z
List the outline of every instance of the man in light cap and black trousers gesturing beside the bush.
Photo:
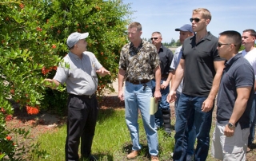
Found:
M 81 155 L 84 159 L 97 160 L 91 155 L 98 102 L 95 92 L 98 86 L 97 74 L 105 77 L 110 74 L 98 62 L 94 53 L 86 51 L 86 37 L 89 33 L 71 33 L 66 44 L 70 52 L 58 66 L 54 79 L 45 81 L 51 88 L 66 83 L 68 97 L 68 117 L 66 136 L 66 160 L 78 160 L 78 147 L 81 139 Z

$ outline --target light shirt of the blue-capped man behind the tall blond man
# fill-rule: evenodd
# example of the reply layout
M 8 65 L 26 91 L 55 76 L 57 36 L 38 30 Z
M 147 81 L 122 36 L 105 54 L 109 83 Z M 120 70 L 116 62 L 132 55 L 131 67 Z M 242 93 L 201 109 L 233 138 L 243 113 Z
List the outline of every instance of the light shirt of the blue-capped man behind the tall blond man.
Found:
M 174 58 L 173 58 L 173 61 L 171 61 L 171 64 L 170 64 L 170 68 L 171 69 L 174 69 L 176 70 L 177 67 L 178 67 L 178 64 L 179 64 L 179 61 L 181 60 L 181 57 L 182 57 L 182 45 L 179 46 L 176 50 L 175 50 L 175 53 L 174 53 Z M 174 81 L 174 80 L 173 80 Z M 178 94 L 181 94 L 182 93 L 182 84 L 183 84 L 183 79 L 181 81 L 181 84 L 179 84 L 176 92 Z

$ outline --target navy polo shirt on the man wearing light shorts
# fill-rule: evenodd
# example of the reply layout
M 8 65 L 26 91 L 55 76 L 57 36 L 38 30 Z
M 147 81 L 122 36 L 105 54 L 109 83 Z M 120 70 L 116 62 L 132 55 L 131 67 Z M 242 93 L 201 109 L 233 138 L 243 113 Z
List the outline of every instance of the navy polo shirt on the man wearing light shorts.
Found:
M 228 124 L 237 99 L 237 88 L 252 87 L 250 98 L 246 105 L 246 111 L 242 114 L 236 125 L 241 128 L 250 128 L 250 109 L 254 99 L 254 69 L 250 63 L 242 57 L 241 53 L 226 62 L 222 73 L 222 80 L 217 98 L 217 121 L 220 124 Z

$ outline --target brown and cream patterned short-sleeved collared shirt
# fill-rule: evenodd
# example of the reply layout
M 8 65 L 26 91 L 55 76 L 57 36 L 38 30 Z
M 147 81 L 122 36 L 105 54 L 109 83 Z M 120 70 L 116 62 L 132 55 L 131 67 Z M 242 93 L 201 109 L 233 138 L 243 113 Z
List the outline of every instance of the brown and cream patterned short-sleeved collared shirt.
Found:
M 138 49 L 131 42 L 122 47 L 119 69 L 126 71 L 125 80 L 152 80 L 158 65 L 157 49 L 150 42 L 142 40 Z

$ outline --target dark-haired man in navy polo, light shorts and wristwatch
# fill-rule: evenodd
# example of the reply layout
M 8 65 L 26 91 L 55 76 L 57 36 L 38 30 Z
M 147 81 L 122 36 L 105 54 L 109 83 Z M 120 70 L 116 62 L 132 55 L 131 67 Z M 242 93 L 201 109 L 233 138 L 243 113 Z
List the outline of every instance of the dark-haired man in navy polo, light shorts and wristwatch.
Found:
M 220 160 L 246 160 L 254 99 L 254 69 L 242 53 L 238 53 L 242 44 L 240 33 L 224 31 L 219 35 L 218 53 L 226 63 L 218 91 L 211 152 Z

